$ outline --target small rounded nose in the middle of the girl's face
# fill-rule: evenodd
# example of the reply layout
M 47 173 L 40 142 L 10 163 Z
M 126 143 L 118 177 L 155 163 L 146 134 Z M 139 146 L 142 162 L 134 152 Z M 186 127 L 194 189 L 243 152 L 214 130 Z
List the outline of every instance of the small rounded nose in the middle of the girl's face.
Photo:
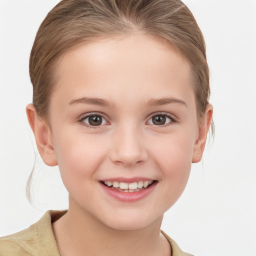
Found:
M 112 139 L 110 159 L 112 162 L 125 166 L 139 164 L 147 159 L 142 132 L 138 127 L 126 125 L 116 129 Z

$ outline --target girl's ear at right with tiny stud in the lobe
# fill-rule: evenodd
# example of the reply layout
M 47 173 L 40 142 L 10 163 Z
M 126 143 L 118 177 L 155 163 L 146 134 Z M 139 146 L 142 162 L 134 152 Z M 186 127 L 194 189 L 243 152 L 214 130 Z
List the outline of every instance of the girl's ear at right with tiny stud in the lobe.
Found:
M 202 158 L 202 153 L 205 147 L 205 142 L 207 138 L 207 133 L 210 127 L 211 118 L 212 118 L 213 107 L 210 103 L 206 105 L 204 115 L 201 117 L 199 126 L 198 126 L 198 137 L 194 144 L 192 162 L 199 162 Z

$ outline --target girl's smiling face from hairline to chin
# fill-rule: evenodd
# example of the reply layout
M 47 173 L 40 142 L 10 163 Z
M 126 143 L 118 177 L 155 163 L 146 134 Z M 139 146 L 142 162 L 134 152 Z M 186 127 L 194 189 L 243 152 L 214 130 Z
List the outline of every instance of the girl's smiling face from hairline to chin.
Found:
M 162 218 L 202 153 L 191 80 L 186 60 L 150 35 L 93 41 L 60 59 L 48 138 L 70 210 L 126 230 Z

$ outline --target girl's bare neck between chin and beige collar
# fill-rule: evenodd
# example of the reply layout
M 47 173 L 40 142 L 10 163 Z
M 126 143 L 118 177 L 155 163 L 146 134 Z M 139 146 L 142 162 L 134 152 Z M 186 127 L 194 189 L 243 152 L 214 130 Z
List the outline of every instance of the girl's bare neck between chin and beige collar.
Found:
M 65 215 L 52 224 L 61 256 L 65 255 L 170 255 L 160 233 L 162 216 L 137 230 L 111 228 L 78 205 L 70 203 Z M 161 253 L 159 253 L 161 252 Z

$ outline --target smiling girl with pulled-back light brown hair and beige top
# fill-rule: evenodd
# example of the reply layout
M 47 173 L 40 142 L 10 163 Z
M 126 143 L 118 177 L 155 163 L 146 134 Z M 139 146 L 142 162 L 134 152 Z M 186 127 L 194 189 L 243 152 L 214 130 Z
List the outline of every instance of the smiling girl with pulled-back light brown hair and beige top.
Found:
M 62 0 L 30 54 L 26 107 L 67 211 L 0 238 L 0 255 L 189 255 L 160 230 L 211 124 L 201 31 L 179 0 Z

